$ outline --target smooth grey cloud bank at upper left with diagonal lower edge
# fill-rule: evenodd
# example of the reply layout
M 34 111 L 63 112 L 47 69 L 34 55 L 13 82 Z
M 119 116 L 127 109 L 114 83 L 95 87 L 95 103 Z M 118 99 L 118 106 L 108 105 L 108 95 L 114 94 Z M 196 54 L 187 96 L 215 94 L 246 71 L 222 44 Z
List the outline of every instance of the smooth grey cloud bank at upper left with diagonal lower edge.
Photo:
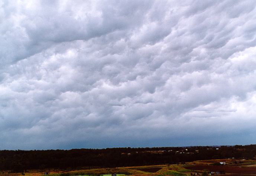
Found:
M 1 25 L 1 60 L 9 64 L 55 43 L 88 40 L 138 26 L 143 18 L 137 16 L 143 16 L 151 4 L 150 1 L 106 3 L 108 6 L 100 2 L 34 1 L 15 6 L 11 1 L 4 2 L 1 9 L 6 20 Z

